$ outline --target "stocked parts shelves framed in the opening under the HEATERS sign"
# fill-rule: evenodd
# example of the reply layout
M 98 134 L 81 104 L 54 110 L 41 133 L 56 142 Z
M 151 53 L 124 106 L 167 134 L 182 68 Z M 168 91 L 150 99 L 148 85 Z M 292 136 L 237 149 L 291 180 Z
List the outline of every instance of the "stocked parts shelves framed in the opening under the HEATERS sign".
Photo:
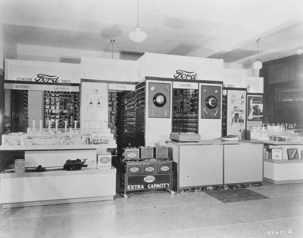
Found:
M 172 132 L 198 133 L 198 89 L 174 89 Z

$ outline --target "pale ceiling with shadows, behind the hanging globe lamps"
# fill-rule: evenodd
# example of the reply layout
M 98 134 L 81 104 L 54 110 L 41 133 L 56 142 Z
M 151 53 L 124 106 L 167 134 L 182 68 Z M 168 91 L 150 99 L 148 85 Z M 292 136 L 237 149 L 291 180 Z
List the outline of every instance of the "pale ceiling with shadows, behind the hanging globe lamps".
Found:
M 302 0 L 0 0 L 0 20 L 17 44 L 252 64 L 303 50 Z

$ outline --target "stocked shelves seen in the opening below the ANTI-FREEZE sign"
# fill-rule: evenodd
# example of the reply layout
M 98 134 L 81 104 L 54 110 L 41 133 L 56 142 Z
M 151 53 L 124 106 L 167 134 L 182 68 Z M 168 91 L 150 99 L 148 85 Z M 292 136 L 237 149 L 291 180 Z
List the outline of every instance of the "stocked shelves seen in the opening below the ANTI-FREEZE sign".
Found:
M 58 120 L 58 128 L 73 127 L 74 121 L 78 121 L 78 93 L 65 91 L 44 91 L 44 120 L 43 127 L 55 127 Z

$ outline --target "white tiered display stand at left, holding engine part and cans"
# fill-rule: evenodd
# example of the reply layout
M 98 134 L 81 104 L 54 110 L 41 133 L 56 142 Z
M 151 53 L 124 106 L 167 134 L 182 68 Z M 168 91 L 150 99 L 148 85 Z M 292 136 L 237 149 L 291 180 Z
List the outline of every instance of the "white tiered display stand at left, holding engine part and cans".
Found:
M 1 173 L 2 208 L 58 203 L 113 200 L 116 169 L 95 168 L 98 149 L 116 144 L 0 146 L 0 150 L 25 150 L 26 167 L 63 166 L 67 159 L 87 159 L 88 168 L 76 171 Z

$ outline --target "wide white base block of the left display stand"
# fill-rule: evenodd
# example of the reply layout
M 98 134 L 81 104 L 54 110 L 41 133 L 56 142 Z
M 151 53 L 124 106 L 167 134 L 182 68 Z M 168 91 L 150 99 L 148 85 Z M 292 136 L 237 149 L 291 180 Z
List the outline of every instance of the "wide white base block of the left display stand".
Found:
M 112 199 L 111 196 L 116 192 L 116 169 L 63 170 L 22 175 L 0 174 L 0 203 L 31 204 L 43 201 L 43 204 L 47 204 L 46 201 L 49 201 L 53 204 L 56 201 L 58 203 L 58 200 L 75 202 L 77 199 L 95 197 Z

